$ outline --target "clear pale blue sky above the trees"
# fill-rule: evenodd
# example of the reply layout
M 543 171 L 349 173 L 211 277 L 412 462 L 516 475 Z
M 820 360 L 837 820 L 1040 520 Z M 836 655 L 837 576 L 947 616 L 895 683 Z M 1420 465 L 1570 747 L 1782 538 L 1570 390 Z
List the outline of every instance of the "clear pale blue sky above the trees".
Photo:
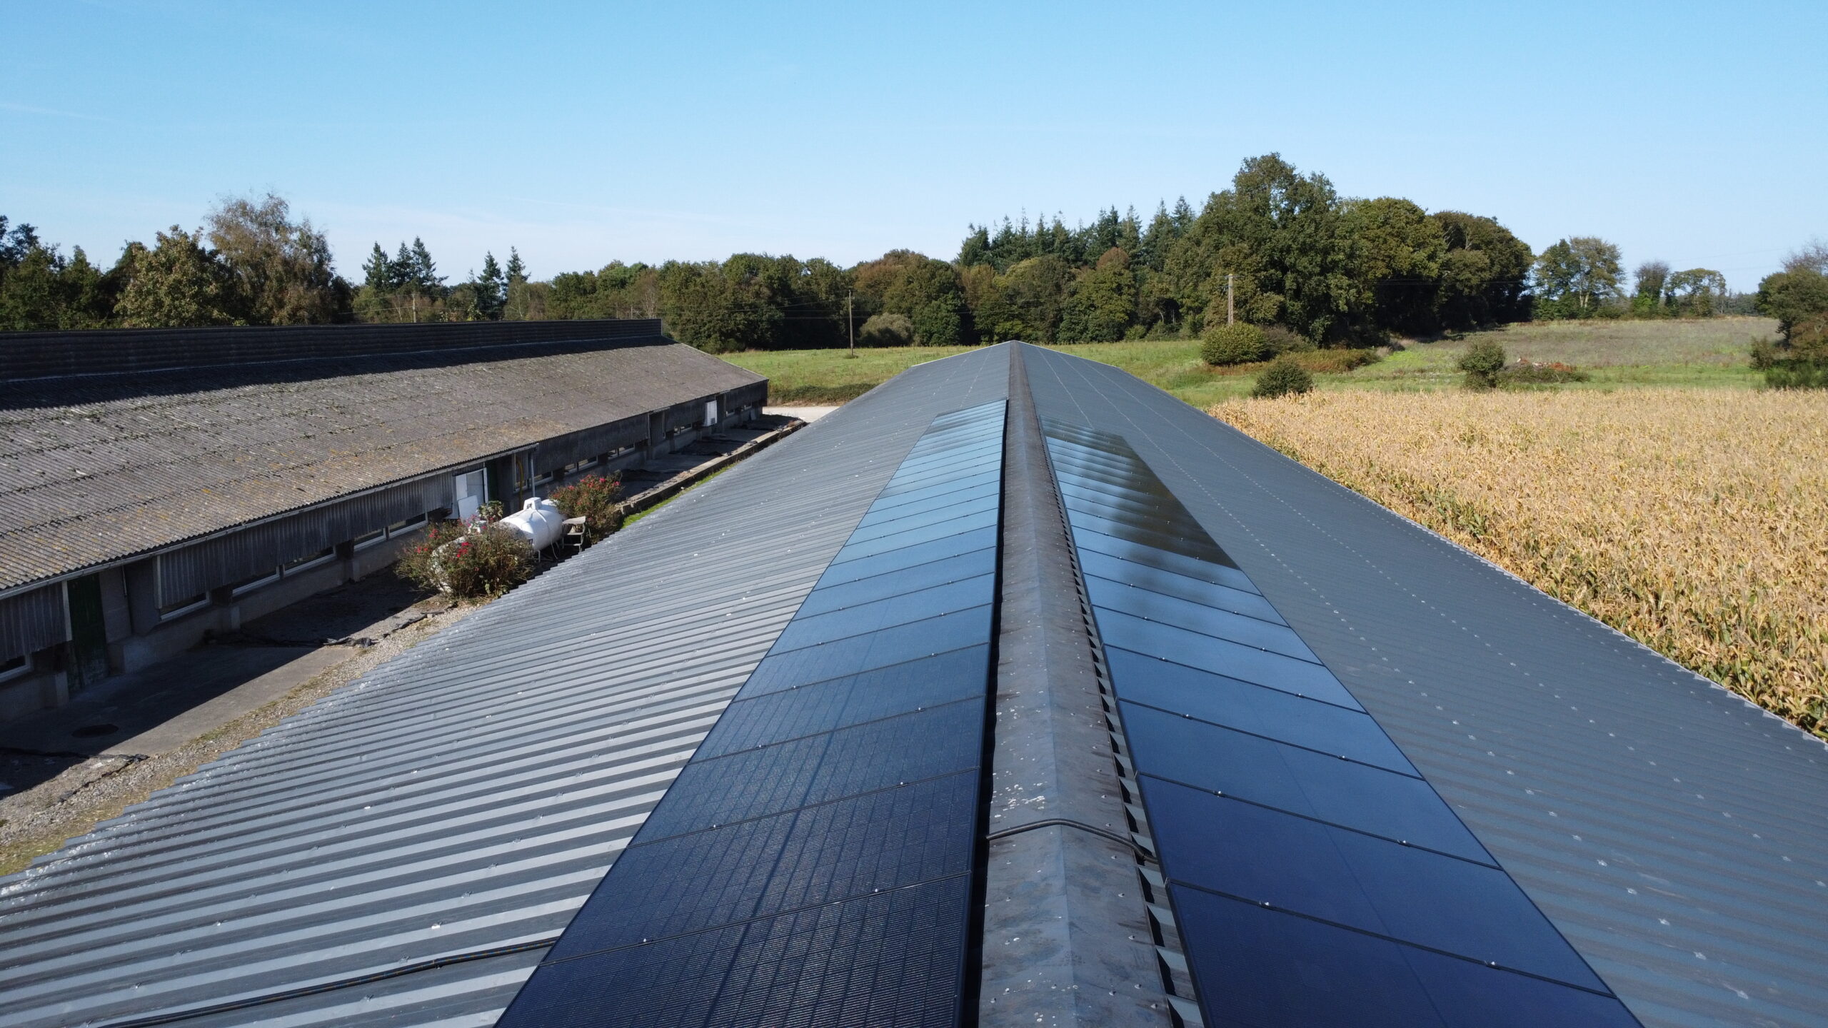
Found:
M 113 260 L 274 190 L 344 274 L 951 258 L 971 221 L 1223 188 L 1598 234 L 1757 285 L 1828 236 L 1828 4 L 0 7 L 0 214 Z

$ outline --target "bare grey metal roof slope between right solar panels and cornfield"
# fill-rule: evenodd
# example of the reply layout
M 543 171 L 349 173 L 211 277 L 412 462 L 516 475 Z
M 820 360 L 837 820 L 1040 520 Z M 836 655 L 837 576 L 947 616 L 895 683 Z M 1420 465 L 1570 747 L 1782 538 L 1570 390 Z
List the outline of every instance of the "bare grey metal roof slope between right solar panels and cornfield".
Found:
M 1122 435 L 1647 1026 L 1828 1024 L 1828 750 L 1113 368 Z

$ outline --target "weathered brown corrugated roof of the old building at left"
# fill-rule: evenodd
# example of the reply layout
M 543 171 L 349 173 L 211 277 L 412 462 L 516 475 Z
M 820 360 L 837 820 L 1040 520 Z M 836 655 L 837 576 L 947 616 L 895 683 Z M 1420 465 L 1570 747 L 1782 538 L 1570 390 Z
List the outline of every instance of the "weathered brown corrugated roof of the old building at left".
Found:
M 649 335 L 0 382 L 0 589 L 760 380 Z

